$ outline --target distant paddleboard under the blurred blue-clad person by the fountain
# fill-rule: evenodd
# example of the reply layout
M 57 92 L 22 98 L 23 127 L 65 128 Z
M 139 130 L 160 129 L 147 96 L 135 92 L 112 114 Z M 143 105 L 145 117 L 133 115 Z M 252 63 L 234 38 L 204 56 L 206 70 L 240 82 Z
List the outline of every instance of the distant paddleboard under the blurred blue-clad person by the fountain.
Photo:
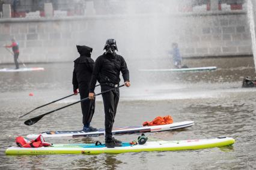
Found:
M 217 69 L 216 66 L 206 66 L 206 67 L 194 67 L 194 68 L 174 68 L 174 69 L 139 69 L 139 71 L 149 71 L 149 72 L 178 72 L 178 71 L 210 71 Z

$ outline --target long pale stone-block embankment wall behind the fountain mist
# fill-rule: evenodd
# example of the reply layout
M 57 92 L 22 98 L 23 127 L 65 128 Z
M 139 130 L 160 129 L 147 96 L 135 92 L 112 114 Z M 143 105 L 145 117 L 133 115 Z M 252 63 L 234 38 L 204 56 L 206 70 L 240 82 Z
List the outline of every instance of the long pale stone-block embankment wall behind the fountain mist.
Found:
M 78 56 L 76 44 L 102 54 L 106 39 L 115 38 L 128 59 L 161 59 L 177 42 L 183 57 L 250 55 L 246 11 L 207 11 L 173 15 L 87 16 L 1 19 L 0 45 L 15 37 L 23 62 L 66 62 Z M 0 62 L 13 62 L 0 48 Z

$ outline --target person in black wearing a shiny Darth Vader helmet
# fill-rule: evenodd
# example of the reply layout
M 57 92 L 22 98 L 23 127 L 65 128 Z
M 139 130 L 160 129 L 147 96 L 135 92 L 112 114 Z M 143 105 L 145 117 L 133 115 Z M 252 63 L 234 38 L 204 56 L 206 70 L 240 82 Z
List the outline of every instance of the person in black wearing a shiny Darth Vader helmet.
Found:
M 119 86 L 120 71 L 123 74 L 125 86 L 130 86 L 129 70 L 126 61 L 122 56 L 115 53 L 115 50 L 117 50 L 115 40 L 107 40 L 103 50 L 106 50 L 105 53 L 99 56 L 95 62 L 93 75 L 91 77 L 89 99 L 94 99 L 94 89 L 99 75 L 99 83 L 102 92 Z M 117 113 L 119 95 L 118 88 L 102 94 L 105 111 L 105 145 L 108 148 L 120 147 L 122 143 L 112 137 L 112 128 L 115 114 Z

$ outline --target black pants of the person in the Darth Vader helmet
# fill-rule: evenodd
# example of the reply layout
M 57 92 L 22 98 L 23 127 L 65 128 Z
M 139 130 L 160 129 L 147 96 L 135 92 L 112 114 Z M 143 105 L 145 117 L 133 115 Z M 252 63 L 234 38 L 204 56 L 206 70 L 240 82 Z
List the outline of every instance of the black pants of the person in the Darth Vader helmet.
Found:
M 112 89 L 110 86 L 102 86 L 102 92 Z M 102 94 L 104 111 L 105 111 L 105 140 L 112 139 L 112 129 L 117 113 L 119 101 L 119 89 L 111 90 Z

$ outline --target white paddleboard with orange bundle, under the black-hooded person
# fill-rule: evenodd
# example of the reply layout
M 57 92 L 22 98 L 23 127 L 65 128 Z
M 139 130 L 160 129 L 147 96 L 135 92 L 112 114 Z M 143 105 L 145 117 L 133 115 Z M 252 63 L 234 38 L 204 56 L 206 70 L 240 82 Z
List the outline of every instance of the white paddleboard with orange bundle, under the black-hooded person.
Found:
M 124 133 L 136 133 L 136 132 L 159 132 L 165 130 L 174 130 L 187 128 L 194 125 L 193 121 L 176 122 L 168 125 L 157 125 L 157 126 L 126 126 L 123 128 L 113 128 L 113 134 L 124 134 Z M 105 129 L 99 129 L 96 132 L 84 132 L 84 131 L 55 131 L 55 132 L 43 132 L 43 138 L 63 138 L 63 137 L 78 137 L 78 136 L 99 136 L 104 135 Z M 26 138 L 35 139 L 38 134 L 27 135 Z

